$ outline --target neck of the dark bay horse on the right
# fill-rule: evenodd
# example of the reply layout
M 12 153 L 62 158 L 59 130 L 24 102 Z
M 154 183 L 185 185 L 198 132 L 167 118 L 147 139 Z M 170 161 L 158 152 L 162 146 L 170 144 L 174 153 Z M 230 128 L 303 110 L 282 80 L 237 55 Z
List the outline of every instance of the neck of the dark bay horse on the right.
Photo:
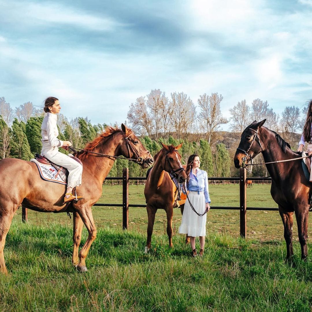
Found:
M 266 128 L 261 129 L 261 144 L 263 144 L 263 159 L 265 163 L 278 161 L 278 160 L 287 160 L 292 158 L 299 158 L 300 156 L 293 152 L 291 149 L 286 147 L 285 153 L 282 151 L 282 148 L 278 144 L 275 135 L 273 132 Z M 298 166 L 300 162 L 298 161 L 290 161 L 290 162 L 281 162 L 281 163 L 271 163 L 266 164 L 266 168 L 272 179 L 277 182 L 285 177 L 285 174 L 294 168 L 294 166 Z

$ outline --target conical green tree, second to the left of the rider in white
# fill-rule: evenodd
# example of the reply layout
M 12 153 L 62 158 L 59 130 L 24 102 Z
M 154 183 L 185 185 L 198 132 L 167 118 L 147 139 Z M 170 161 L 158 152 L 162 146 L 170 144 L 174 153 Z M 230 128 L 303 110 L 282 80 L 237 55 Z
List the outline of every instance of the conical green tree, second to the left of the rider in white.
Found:
M 26 130 L 25 126 L 25 123 L 19 123 L 17 118 L 13 120 L 10 140 L 11 156 L 13 158 L 30 160 L 33 154 L 30 151 L 27 136 L 24 132 L 24 129 Z

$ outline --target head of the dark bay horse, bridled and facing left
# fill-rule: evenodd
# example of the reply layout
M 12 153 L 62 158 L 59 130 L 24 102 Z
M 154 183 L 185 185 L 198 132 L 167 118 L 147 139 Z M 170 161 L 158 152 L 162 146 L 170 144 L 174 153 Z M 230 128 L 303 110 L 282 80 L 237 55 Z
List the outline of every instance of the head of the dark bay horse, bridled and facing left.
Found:
M 252 161 L 253 158 L 263 151 L 258 132 L 265 121 L 266 119 L 257 123 L 255 120 L 241 134 L 241 142 L 234 155 L 236 168 L 240 168 L 248 161 Z

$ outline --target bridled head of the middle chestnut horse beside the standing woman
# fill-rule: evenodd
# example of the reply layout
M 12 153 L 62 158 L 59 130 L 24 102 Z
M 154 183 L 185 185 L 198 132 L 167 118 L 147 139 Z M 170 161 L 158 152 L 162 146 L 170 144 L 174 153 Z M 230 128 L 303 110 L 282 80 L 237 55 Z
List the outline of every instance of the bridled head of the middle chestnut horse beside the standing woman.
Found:
M 162 160 L 162 167 L 165 171 L 170 173 L 172 176 L 178 176 L 178 182 L 184 183 L 186 181 L 185 170 L 181 164 L 181 155 L 178 152 L 183 145 L 183 143 L 178 146 L 173 145 L 165 145 L 161 143 L 163 146 L 164 157 Z

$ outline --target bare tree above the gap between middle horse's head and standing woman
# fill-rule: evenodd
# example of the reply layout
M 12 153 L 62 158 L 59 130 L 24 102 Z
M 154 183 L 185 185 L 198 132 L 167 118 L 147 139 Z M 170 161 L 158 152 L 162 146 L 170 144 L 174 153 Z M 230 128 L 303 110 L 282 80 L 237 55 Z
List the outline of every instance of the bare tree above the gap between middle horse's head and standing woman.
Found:
M 178 139 L 181 139 L 183 134 L 192 133 L 196 108 L 193 101 L 183 92 L 171 93 L 171 100 L 174 128 Z

